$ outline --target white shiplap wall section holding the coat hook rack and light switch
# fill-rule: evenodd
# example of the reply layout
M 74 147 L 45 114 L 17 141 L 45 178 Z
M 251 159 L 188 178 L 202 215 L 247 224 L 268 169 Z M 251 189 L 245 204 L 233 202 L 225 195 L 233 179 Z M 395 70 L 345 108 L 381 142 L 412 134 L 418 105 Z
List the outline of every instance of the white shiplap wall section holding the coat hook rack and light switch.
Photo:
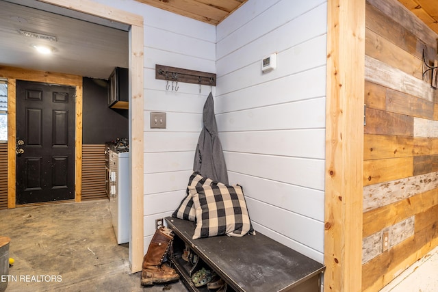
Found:
M 209 86 L 179 83 L 166 91 L 155 64 L 216 72 L 216 27 L 133 0 L 98 0 L 144 18 L 144 252 L 155 219 L 177 209 L 193 169 Z M 216 89 L 213 88 L 213 93 Z M 167 129 L 150 129 L 151 111 L 165 111 Z

